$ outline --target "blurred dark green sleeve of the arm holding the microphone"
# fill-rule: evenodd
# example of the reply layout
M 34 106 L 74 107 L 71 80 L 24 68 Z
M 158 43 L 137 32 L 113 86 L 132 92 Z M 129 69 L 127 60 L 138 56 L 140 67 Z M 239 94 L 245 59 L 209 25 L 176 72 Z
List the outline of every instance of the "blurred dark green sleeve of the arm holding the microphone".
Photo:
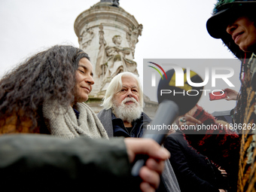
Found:
M 0 137 L 2 191 L 116 191 L 130 171 L 123 139 Z

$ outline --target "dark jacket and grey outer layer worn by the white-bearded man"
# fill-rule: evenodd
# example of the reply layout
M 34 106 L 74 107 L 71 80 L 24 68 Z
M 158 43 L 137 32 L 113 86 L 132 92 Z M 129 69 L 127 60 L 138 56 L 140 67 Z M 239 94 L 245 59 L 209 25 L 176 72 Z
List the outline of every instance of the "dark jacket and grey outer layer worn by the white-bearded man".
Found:
M 150 123 L 151 118 L 148 117 L 147 114 L 142 113 L 142 116 L 133 122 L 133 130 L 129 134 L 126 128 L 123 125 L 123 120 L 117 118 L 112 114 L 112 110 L 103 109 L 97 114 L 99 120 L 101 120 L 105 130 L 108 133 L 108 136 L 111 138 L 113 136 L 124 136 L 124 137 L 142 137 L 144 130 L 143 126 L 148 125 Z M 114 123 L 114 126 L 113 126 Z M 162 175 L 160 176 L 160 187 L 157 190 L 158 192 L 180 192 L 180 188 L 178 186 L 177 178 L 172 169 L 172 165 L 168 160 L 165 162 L 165 169 L 163 170 Z

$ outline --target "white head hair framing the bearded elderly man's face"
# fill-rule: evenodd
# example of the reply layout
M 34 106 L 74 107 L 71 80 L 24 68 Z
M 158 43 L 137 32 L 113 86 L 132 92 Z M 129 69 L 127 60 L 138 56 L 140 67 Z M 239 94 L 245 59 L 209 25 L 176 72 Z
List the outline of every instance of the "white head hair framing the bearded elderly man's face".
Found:
M 105 110 L 108 110 L 108 108 L 112 108 L 114 95 L 119 92 L 123 86 L 122 77 L 131 77 L 136 80 L 139 92 L 139 105 L 141 107 L 143 106 L 142 84 L 140 83 L 138 76 L 134 75 L 131 72 L 121 72 L 111 80 L 110 84 L 108 85 L 108 89 L 105 92 L 105 96 L 101 105 Z

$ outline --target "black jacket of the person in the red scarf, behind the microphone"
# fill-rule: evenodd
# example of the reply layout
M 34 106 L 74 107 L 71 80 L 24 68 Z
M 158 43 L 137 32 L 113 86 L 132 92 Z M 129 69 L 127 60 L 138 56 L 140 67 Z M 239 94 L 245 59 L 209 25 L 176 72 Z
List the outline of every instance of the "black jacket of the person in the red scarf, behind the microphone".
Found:
M 180 130 L 166 137 L 164 147 L 171 153 L 172 164 L 181 192 L 218 192 L 224 186 L 221 172 L 210 160 L 192 148 Z

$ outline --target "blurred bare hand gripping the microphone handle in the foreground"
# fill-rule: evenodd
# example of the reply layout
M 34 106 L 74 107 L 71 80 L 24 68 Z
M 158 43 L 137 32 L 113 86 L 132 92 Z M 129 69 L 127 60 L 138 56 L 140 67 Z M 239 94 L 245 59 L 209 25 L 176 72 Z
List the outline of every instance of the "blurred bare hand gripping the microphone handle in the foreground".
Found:
M 152 139 L 126 138 L 124 142 L 130 163 L 133 163 L 136 154 L 149 156 L 145 166 L 142 166 L 139 172 L 139 176 L 143 180 L 140 188 L 145 192 L 155 191 L 160 184 L 160 173 L 163 172 L 164 160 L 170 157 L 169 151 Z

